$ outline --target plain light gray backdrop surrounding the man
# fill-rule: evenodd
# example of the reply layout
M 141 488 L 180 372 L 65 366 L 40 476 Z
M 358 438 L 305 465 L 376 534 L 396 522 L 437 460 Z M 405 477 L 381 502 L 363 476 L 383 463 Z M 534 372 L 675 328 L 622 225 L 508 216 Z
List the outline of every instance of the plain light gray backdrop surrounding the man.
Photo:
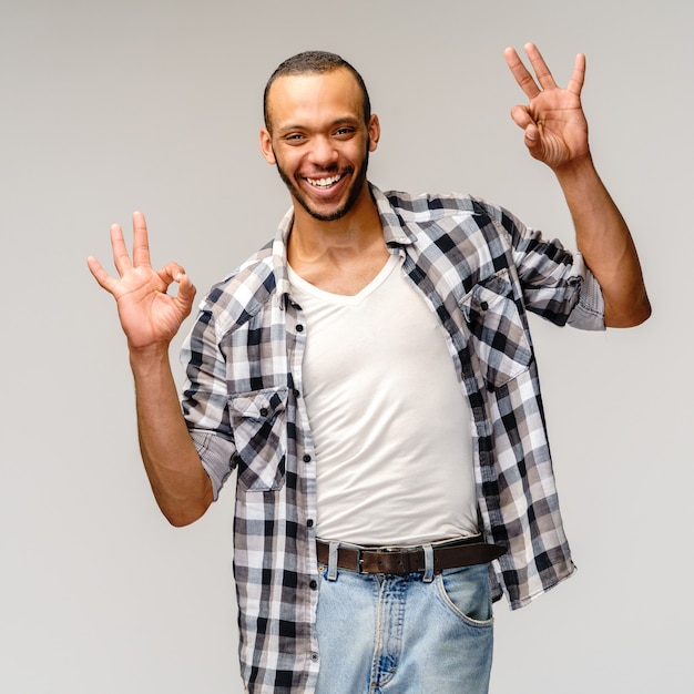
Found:
M 181 530 L 155 507 L 114 304 L 84 262 L 111 267 L 109 225 L 143 210 L 155 264 L 185 264 L 201 292 L 263 244 L 288 198 L 257 147 L 262 89 L 319 48 L 370 88 L 375 183 L 482 195 L 571 244 L 509 118 L 523 98 L 502 51 L 528 40 L 562 83 L 588 55 L 595 160 L 654 316 L 598 335 L 533 322 L 580 571 L 521 612 L 497 605 L 492 692 L 691 691 L 693 8 L 0 2 L 0 691 L 241 692 L 233 491 Z

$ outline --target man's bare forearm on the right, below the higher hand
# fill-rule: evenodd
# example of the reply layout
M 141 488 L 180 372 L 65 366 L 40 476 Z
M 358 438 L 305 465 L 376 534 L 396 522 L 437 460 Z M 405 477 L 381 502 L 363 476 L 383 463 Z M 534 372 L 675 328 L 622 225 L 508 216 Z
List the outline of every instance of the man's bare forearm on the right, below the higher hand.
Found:
M 631 327 L 651 315 L 639 255 L 629 227 L 590 156 L 555 171 L 576 233 L 576 244 L 598 279 L 605 325 Z

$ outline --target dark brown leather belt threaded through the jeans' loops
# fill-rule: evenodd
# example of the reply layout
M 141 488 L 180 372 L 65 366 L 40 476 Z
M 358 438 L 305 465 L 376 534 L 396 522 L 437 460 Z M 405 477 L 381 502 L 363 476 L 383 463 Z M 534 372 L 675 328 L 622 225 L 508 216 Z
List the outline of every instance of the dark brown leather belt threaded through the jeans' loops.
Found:
M 484 542 L 481 535 L 463 538 L 432 545 L 433 572 L 445 569 L 458 569 L 474 564 L 487 564 L 506 553 L 500 544 Z M 316 540 L 318 562 L 329 562 L 330 544 Z M 348 569 L 359 573 L 390 573 L 406 575 L 422 573 L 426 570 L 425 548 L 418 547 L 339 547 L 337 550 L 338 569 Z

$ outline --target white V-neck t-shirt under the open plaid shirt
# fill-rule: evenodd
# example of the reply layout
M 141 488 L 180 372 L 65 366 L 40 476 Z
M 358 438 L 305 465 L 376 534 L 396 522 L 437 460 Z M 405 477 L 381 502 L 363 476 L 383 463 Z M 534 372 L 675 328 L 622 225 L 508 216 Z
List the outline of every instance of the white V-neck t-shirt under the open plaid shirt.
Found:
M 476 533 L 469 405 L 443 328 L 399 258 L 355 296 L 292 268 L 289 282 L 306 319 L 318 537 L 407 545 Z

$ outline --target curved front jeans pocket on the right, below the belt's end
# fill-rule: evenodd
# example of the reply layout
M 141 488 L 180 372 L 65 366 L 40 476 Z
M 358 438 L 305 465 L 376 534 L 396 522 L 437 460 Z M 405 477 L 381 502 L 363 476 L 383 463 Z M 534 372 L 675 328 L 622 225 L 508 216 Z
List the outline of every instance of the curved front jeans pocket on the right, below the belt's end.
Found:
M 493 614 L 489 567 L 449 569 L 435 579 L 439 598 L 456 616 L 474 626 L 491 626 Z

